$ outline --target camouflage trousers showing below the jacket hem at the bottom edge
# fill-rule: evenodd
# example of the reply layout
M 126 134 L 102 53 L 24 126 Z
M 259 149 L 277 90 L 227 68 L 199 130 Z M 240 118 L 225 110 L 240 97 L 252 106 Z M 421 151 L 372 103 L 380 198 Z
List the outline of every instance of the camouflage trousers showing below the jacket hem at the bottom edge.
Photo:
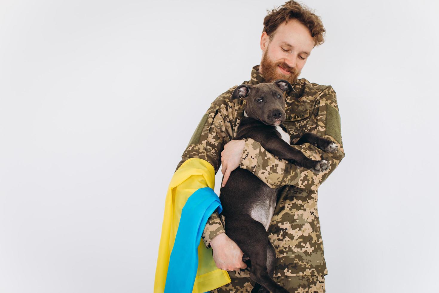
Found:
M 291 293 L 326 292 L 324 275 L 282 276 L 273 279 L 278 284 L 283 284 L 284 288 Z M 232 282 L 211 290 L 210 293 L 250 293 L 255 285 L 255 282 L 248 277 L 235 277 L 230 275 L 230 280 Z

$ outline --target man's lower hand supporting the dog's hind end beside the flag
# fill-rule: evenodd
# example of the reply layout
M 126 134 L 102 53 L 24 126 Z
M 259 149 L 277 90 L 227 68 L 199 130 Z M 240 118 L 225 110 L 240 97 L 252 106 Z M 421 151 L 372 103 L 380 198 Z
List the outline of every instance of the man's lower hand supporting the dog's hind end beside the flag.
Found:
M 213 249 L 213 260 L 218 268 L 225 271 L 238 271 L 247 268 L 242 261 L 244 253 L 226 233 L 221 233 L 210 240 Z

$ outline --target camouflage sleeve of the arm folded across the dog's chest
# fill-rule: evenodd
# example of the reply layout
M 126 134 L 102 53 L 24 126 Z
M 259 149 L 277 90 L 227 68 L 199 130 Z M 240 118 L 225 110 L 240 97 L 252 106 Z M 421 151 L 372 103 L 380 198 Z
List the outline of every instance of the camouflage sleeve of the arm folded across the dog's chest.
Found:
M 307 190 L 317 190 L 345 156 L 334 89 L 331 86 L 325 88 L 319 98 L 319 102 L 316 103 L 319 108 L 316 134 L 335 142 L 338 145 L 338 151 L 324 152 L 309 143 L 291 145 L 291 147 L 302 151 L 310 159 L 326 160 L 329 163 L 327 170 L 316 174 L 306 168 L 298 168 L 293 163 L 267 152 L 259 142 L 251 138 L 245 139 L 240 167 L 255 174 L 271 188 L 294 185 Z

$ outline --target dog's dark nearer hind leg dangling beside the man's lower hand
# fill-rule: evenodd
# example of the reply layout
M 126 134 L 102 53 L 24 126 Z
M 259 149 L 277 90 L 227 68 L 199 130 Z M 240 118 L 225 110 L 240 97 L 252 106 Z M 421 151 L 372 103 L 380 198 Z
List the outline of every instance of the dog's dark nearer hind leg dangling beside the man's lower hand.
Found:
M 243 227 L 246 228 L 245 231 L 242 230 Z M 227 218 L 225 228 L 227 236 L 236 242 L 242 252 L 247 254 L 252 261 L 250 279 L 264 286 L 270 292 L 288 293 L 288 290 L 277 284 L 270 276 L 274 272 L 273 260 L 270 260 L 270 273 L 268 272 L 267 251 L 271 248 L 268 248 L 270 246 L 268 235 L 263 224 L 248 216 L 233 216 L 233 218 Z

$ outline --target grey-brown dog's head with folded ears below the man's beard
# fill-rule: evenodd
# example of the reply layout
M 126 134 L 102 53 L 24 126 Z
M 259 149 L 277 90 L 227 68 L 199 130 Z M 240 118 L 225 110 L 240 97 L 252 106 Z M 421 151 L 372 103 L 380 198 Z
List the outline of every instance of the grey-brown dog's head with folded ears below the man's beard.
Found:
M 245 113 L 248 117 L 277 126 L 286 118 L 284 91 L 287 90 L 294 89 L 286 80 L 241 84 L 234 89 L 231 99 L 245 98 Z

